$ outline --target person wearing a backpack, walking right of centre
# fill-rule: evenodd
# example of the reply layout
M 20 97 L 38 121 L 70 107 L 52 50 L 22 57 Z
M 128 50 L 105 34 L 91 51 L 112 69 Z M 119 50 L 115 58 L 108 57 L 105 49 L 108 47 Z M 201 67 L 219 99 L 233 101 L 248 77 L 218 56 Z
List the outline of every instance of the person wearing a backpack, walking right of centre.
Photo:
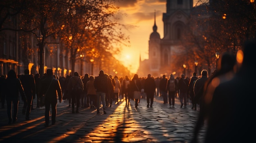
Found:
M 175 104 L 175 95 L 177 94 L 178 82 L 175 80 L 174 75 L 171 74 L 170 78 L 167 81 L 168 97 L 169 97 L 169 106 L 174 107 Z

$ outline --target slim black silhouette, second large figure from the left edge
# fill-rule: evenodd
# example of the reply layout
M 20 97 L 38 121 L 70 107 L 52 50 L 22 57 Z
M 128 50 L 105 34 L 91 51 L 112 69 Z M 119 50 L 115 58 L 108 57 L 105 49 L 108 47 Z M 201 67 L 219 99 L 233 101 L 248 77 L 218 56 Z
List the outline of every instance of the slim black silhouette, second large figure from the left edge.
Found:
M 25 69 L 24 74 L 25 75 L 20 77 L 20 81 L 27 97 L 27 103 L 24 103 L 22 114 L 26 114 L 26 120 L 31 120 L 29 114 L 31 111 L 32 101 L 36 97 L 36 84 L 34 77 L 29 75 L 29 69 Z

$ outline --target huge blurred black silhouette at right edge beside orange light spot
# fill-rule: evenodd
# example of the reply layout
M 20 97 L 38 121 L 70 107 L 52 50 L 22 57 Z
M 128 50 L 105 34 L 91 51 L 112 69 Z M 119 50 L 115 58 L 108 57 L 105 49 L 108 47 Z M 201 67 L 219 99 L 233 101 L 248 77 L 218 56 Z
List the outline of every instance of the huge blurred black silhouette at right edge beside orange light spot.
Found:
M 245 43 L 243 63 L 230 81 L 216 87 L 211 101 L 206 143 L 256 143 L 256 82 L 252 76 L 256 63 L 256 42 Z M 244 56 L 243 56 L 244 55 Z

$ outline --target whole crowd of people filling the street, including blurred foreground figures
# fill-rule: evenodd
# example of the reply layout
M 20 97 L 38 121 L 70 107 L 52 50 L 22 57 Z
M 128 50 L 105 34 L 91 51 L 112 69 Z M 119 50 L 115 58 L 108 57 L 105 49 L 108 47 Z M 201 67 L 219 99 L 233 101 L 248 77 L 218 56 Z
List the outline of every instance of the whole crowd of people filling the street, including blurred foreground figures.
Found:
M 47 69 L 47 73 L 42 77 L 39 74 L 29 75 L 28 69 L 24 70 L 24 75 L 19 76 L 14 70 L 10 70 L 7 78 L 1 77 L 2 108 L 4 108 L 4 101 L 6 100 L 9 124 L 15 123 L 21 98 L 24 102 L 22 114 L 25 114 L 25 120 L 31 120 L 29 115 L 34 109 L 33 99 L 37 97 L 36 108 L 42 106 L 43 100 L 45 126 L 48 127 L 50 107 L 52 107 L 52 125 L 54 125 L 57 101 L 61 103 L 63 99 L 69 102 L 68 107 L 72 107 L 73 114 L 79 113 L 80 105 L 82 108 L 96 108 L 97 114 L 100 114 L 101 104 L 103 114 L 107 114 L 106 108 L 119 104 L 120 99 L 124 99 L 126 105 L 135 101 L 135 108 L 137 108 L 139 100 L 144 98 L 147 101 L 145 106 L 152 108 L 154 98 L 162 97 L 164 104 L 169 104 L 170 107 L 174 108 L 175 97 L 179 97 L 180 108 L 186 108 L 188 101 L 192 102 L 193 110 L 197 110 L 198 104 L 200 106 L 193 143 L 197 142 L 198 132 L 205 119 L 209 121 L 207 124 L 207 142 L 229 142 L 227 136 L 230 138 L 233 134 L 239 136 L 239 132 L 234 131 L 239 130 L 243 132 L 243 136 L 247 137 L 256 133 L 256 108 L 251 103 L 255 101 L 255 90 L 251 89 L 254 87 L 252 85 L 255 84 L 250 84 L 250 86 L 247 84 L 252 78 L 248 73 L 250 73 L 251 64 L 255 63 L 251 52 L 255 51 L 255 47 L 255 42 L 245 45 L 241 67 L 236 64 L 233 54 L 223 53 L 219 70 L 214 71 L 209 76 L 208 71 L 204 69 L 200 76 L 193 73 L 190 78 L 184 74 L 179 78 L 175 78 L 173 74 L 170 74 L 169 78 L 166 75 L 152 77 L 150 74 L 147 78 L 139 77 L 137 74 L 131 79 L 127 75 L 124 78 L 119 78 L 117 75 L 114 77 L 108 75 L 103 70 L 100 70 L 96 77 L 89 76 L 87 73 L 81 76 L 78 72 L 74 72 L 72 76 L 67 75 L 58 78 L 53 75 L 52 69 Z M 242 97 L 244 94 L 247 97 Z M 242 102 L 241 100 L 245 101 Z M 245 103 L 245 106 L 250 109 L 247 112 L 241 111 L 244 108 L 237 107 L 237 105 L 240 106 Z M 245 112 L 246 114 L 242 114 L 244 118 L 241 118 L 241 114 L 236 111 Z M 243 121 L 243 125 L 239 124 L 240 121 Z M 251 123 L 252 126 L 248 123 Z M 236 128 L 232 126 L 234 124 L 237 124 Z M 228 131 L 229 133 L 227 133 Z

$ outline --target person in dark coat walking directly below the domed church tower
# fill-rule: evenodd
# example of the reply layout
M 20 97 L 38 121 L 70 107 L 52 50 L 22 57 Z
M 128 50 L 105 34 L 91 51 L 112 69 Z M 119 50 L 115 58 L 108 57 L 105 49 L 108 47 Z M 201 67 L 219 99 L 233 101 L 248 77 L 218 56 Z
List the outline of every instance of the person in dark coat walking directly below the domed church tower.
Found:
M 144 92 L 146 93 L 146 98 L 147 98 L 147 108 L 152 107 L 153 101 L 154 101 L 154 94 L 155 94 L 155 80 L 151 77 L 150 74 L 148 74 L 148 78 L 145 79 L 144 82 Z

